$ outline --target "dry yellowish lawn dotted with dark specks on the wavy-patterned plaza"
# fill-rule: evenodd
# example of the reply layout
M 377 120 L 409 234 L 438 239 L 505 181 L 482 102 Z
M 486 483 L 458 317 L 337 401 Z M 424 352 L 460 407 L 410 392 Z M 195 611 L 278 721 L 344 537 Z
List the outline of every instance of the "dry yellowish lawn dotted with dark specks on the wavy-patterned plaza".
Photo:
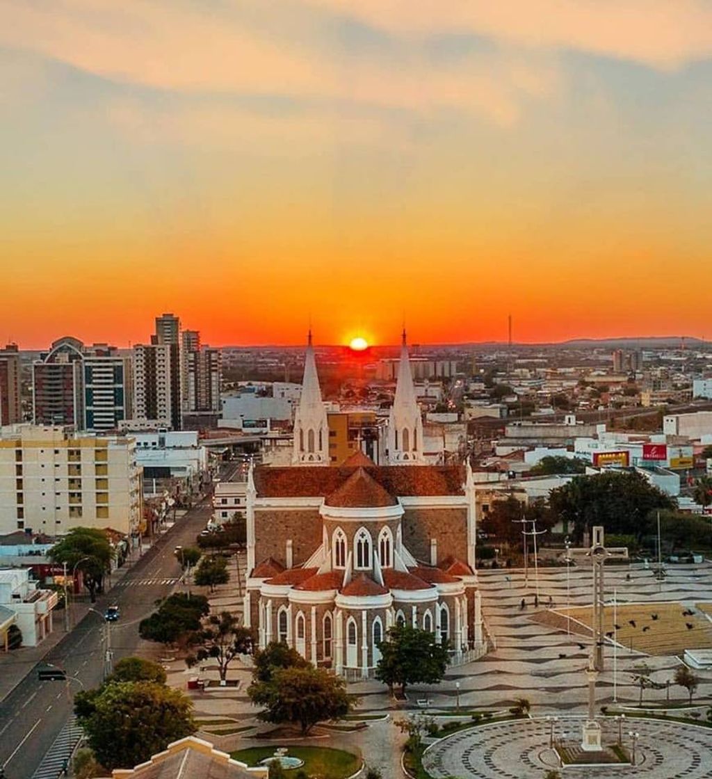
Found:
M 683 615 L 686 607 L 679 603 L 645 603 L 618 605 L 619 643 L 647 654 L 682 654 L 686 649 L 712 648 L 712 623 L 699 612 Z M 566 608 L 555 610 L 566 617 Z M 589 626 L 592 622 L 592 608 L 571 608 L 571 629 L 576 631 L 573 620 Z M 653 616 L 657 615 L 657 619 Z M 635 624 L 631 625 L 633 621 Z M 559 626 L 561 621 L 559 620 Z M 613 606 L 606 605 L 604 631 L 613 630 Z

